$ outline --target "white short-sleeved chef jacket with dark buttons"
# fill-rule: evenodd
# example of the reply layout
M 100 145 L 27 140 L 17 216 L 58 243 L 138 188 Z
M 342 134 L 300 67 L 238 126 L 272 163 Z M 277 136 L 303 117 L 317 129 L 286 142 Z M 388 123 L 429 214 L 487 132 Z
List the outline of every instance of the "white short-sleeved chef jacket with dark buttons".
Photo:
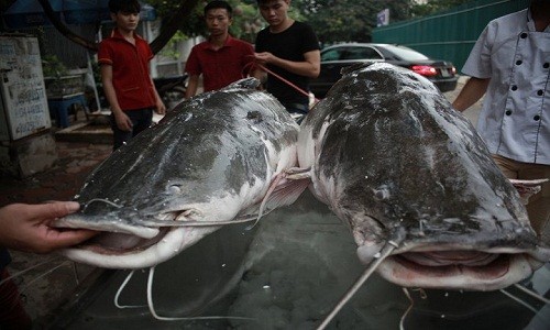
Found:
M 550 26 L 528 9 L 491 21 L 462 73 L 491 78 L 477 131 L 494 154 L 550 165 Z

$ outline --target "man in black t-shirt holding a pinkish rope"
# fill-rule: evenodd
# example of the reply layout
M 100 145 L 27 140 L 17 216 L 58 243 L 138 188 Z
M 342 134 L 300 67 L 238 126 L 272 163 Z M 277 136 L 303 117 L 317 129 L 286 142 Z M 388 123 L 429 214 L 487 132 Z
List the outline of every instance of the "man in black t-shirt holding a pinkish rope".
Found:
M 309 109 L 309 79 L 320 72 L 317 35 L 308 24 L 288 16 L 290 0 L 257 0 L 257 4 L 270 26 L 256 36 L 255 61 L 279 76 L 268 73 L 266 89 L 288 112 L 305 114 Z M 256 69 L 254 76 L 262 79 L 265 72 Z

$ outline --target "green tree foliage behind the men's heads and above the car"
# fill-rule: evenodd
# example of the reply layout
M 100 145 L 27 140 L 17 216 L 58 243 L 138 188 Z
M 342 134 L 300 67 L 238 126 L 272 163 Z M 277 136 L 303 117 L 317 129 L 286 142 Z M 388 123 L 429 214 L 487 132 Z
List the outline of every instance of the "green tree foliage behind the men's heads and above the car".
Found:
M 370 42 L 376 26 L 376 14 L 389 9 L 389 22 L 409 20 L 432 14 L 469 0 L 429 0 L 418 4 L 414 0 L 293 0 L 289 15 L 308 22 L 322 44 L 344 41 Z M 169 16 L 180 6 L 178 0 L 147 0 L 160 16 Z M 257 11 L 256 0 L 228 0 L 233 7 L 233 24 L 230 33 L 239 38 L 254 42 L 256 33 L 266 23 Z M 208 35 L 204 20 L 204 8 L 208 0 L 200 1 L 194 13 L 182 22 L 180 32 L 187 36 Z

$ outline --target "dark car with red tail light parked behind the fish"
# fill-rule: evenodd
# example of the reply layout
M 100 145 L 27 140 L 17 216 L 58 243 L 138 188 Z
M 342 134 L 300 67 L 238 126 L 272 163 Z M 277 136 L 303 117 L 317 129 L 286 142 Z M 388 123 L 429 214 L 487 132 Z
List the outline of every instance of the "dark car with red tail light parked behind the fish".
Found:
M 431 59 L 411 48 L 391 44 L 338 44 L 321 51 L 321 73 L 311 79 L 310 89 L 323 98 L 346 66 L 363 62 L 387 62 L 414 70 L 431 80 L 440 91 L 451 91 L 459 77 L 452 63 Z

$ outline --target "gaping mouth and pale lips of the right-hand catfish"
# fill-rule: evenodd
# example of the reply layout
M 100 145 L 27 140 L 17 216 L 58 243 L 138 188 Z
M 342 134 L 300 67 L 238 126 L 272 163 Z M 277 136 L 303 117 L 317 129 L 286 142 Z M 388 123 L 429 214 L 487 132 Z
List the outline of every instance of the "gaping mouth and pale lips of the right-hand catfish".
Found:
M 528 277 L 539 263 L 528 253 L 438 250 L 393 254 L 377 272 L 405 287 L 495 290 Z

